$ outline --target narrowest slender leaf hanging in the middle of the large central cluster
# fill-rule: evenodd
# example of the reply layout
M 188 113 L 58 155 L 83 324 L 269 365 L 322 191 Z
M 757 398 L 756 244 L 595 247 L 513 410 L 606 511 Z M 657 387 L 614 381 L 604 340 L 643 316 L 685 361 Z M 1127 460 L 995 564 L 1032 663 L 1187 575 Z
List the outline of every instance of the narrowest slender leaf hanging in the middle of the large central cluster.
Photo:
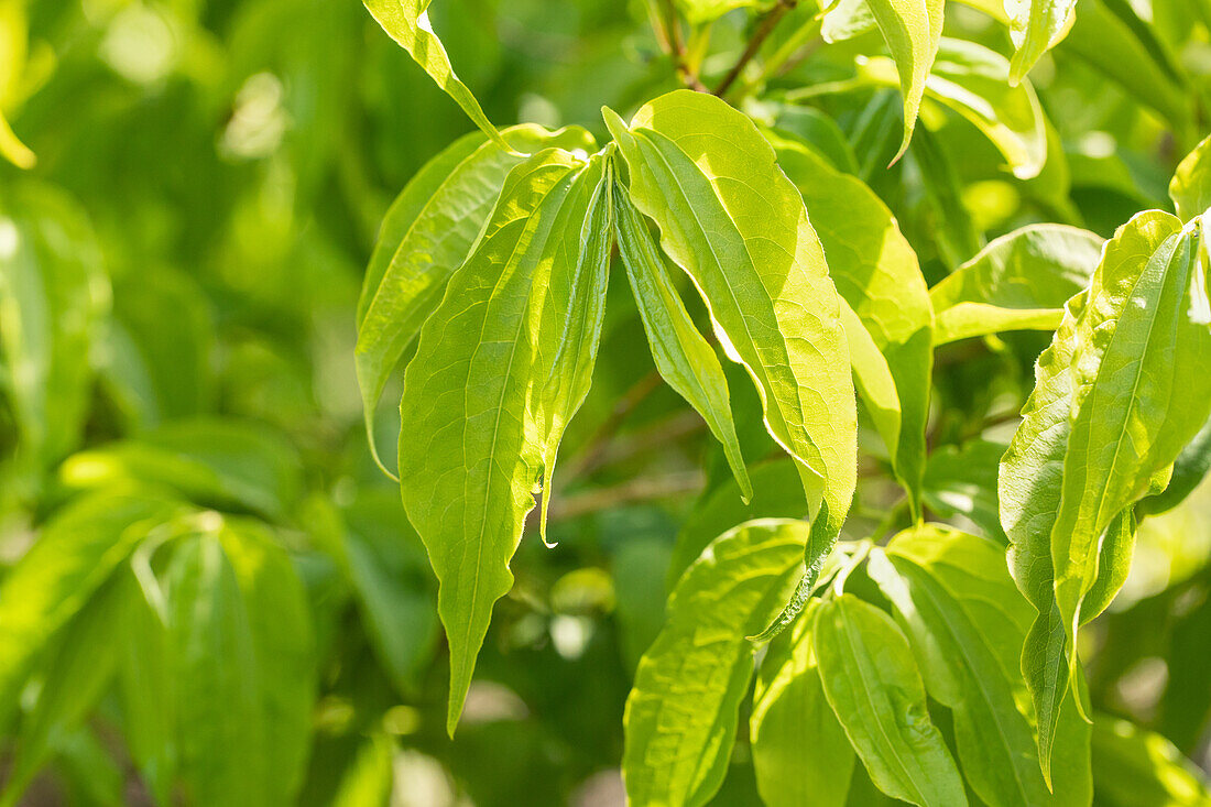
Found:
M 728 465 L 740 486 L 740 496 L 748 502 L 753 486 L 740 453 L 728 379 L 719 359 L 694 326 L 668 276 L 665 257 L 625 190 L 615 194 L 615 204 L 619 253 L 626 265 L 635 305 L 639 309 L 656 368 L 668 385 L 698 410 L 711 434 L 723 445 Z

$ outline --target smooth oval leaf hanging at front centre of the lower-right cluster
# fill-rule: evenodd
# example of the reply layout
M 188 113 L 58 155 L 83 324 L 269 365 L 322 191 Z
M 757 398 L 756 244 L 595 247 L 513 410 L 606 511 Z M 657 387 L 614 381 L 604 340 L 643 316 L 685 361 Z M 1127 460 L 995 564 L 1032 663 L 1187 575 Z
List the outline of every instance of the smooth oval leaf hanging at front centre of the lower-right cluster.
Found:
M 876 786 L 922 807 L 965 806 L 963 779 L 891 617 L 843 594 L 820 607 L 814 646 L 828 704 Z

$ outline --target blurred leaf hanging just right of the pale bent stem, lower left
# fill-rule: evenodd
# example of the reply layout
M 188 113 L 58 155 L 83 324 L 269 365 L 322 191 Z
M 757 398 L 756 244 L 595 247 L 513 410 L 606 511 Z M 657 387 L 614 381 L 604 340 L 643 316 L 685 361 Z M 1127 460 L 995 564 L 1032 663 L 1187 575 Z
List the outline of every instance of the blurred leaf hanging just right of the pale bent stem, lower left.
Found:
M 214 532 L 184 538 L 174 549 L 166 590 L 185 797 L 200 805 L 269 803 L 252 625 Z

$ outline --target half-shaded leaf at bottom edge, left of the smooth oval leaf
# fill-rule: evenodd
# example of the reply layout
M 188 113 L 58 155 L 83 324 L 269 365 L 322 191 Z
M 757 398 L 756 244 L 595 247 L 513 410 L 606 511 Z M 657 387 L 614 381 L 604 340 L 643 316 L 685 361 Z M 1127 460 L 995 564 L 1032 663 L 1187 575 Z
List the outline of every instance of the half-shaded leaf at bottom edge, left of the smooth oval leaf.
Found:
M 844 807 L 854 749 L 820 683 L 811 647 L 816 606 L 762 660 L 750 719 L 757 789 L 769 807 Z

